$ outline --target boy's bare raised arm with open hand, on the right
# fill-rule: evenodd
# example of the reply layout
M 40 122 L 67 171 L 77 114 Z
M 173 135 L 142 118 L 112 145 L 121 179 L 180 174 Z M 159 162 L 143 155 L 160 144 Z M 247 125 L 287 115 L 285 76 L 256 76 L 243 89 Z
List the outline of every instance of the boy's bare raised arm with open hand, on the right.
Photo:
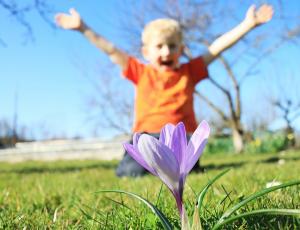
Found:
M 208 47 L 208 52 L 203 55 L 205 64 L 210 64 L 218 55 L 238 42 L 249 31 L 270 21 L 272 16 L 273 8 L 270 5 L 262 5 L 258 10 L 255 9 L 255 5 L 250 6 L 245 19 L 239 25 L 217 38 Z

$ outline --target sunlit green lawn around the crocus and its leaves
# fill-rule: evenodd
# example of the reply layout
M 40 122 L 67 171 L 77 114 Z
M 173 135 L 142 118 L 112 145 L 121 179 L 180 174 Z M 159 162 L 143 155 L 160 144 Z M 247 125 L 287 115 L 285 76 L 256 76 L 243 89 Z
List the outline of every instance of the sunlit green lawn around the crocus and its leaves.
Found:
M 278 160 L 285 159 L 279 165 Z M 0 163 L 0 229 L 160 229 L 161 223 L 143 204 L 120 194 L 96 194 L 104 189 L 136 193 L 156 204 L 179 228 L 173 197 L 151 175 L 117 178 L 117 162 L 58 161 Z M 191 216 L 196 194 L 208 180 L 230 167 L 229 173 L 209 190 L 201 222 L 213 226 L 222 213 L 239 200 L 276 180 L 299 179 L 300 152 L 241 156 L 207 155 L 203 173 L 188 176 L 184 192 Z M 270 193 L 243 207 L 300 209 L 300 186 Z M 86 215 L 83 214 L 86 213 Z M 235 221 L 224 229 L 299 229 L 299 218 L 255 216 Z

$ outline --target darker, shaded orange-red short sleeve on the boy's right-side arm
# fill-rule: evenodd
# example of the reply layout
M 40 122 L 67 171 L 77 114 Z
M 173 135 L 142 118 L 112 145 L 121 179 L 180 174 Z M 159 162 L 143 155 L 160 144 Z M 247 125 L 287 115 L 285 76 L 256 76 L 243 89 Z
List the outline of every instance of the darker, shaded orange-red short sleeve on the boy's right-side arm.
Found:
M 194 84 L 208 77 L 208 69 L 202 56 L 190 60 L 187 65 Z

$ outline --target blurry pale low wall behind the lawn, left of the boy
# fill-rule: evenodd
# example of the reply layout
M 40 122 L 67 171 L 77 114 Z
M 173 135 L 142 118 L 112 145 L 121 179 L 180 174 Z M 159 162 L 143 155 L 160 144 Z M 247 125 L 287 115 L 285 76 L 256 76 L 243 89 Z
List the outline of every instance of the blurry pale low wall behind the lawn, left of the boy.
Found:
M 0 161 L 120 160 L 124 153 L 122 143 L 128 139 L 124 136 L 107 141 L 90 139 L 17 143 L 15 148 L 0 150 Z

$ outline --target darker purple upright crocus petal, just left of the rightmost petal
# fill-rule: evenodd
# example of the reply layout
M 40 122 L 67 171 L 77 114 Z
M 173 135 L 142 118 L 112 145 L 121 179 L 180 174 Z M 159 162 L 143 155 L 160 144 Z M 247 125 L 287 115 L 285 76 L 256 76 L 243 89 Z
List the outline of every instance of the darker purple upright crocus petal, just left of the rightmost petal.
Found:
M 182 122 L 176 125 L 175 130 L 172 135 L 171 141 L 171 150 L 174 152 L 179 165 L 183 165 L 182 163 L 185 160 L 185 153 L 187 148 L 186 141 L 186 131 L 184 124 Z

